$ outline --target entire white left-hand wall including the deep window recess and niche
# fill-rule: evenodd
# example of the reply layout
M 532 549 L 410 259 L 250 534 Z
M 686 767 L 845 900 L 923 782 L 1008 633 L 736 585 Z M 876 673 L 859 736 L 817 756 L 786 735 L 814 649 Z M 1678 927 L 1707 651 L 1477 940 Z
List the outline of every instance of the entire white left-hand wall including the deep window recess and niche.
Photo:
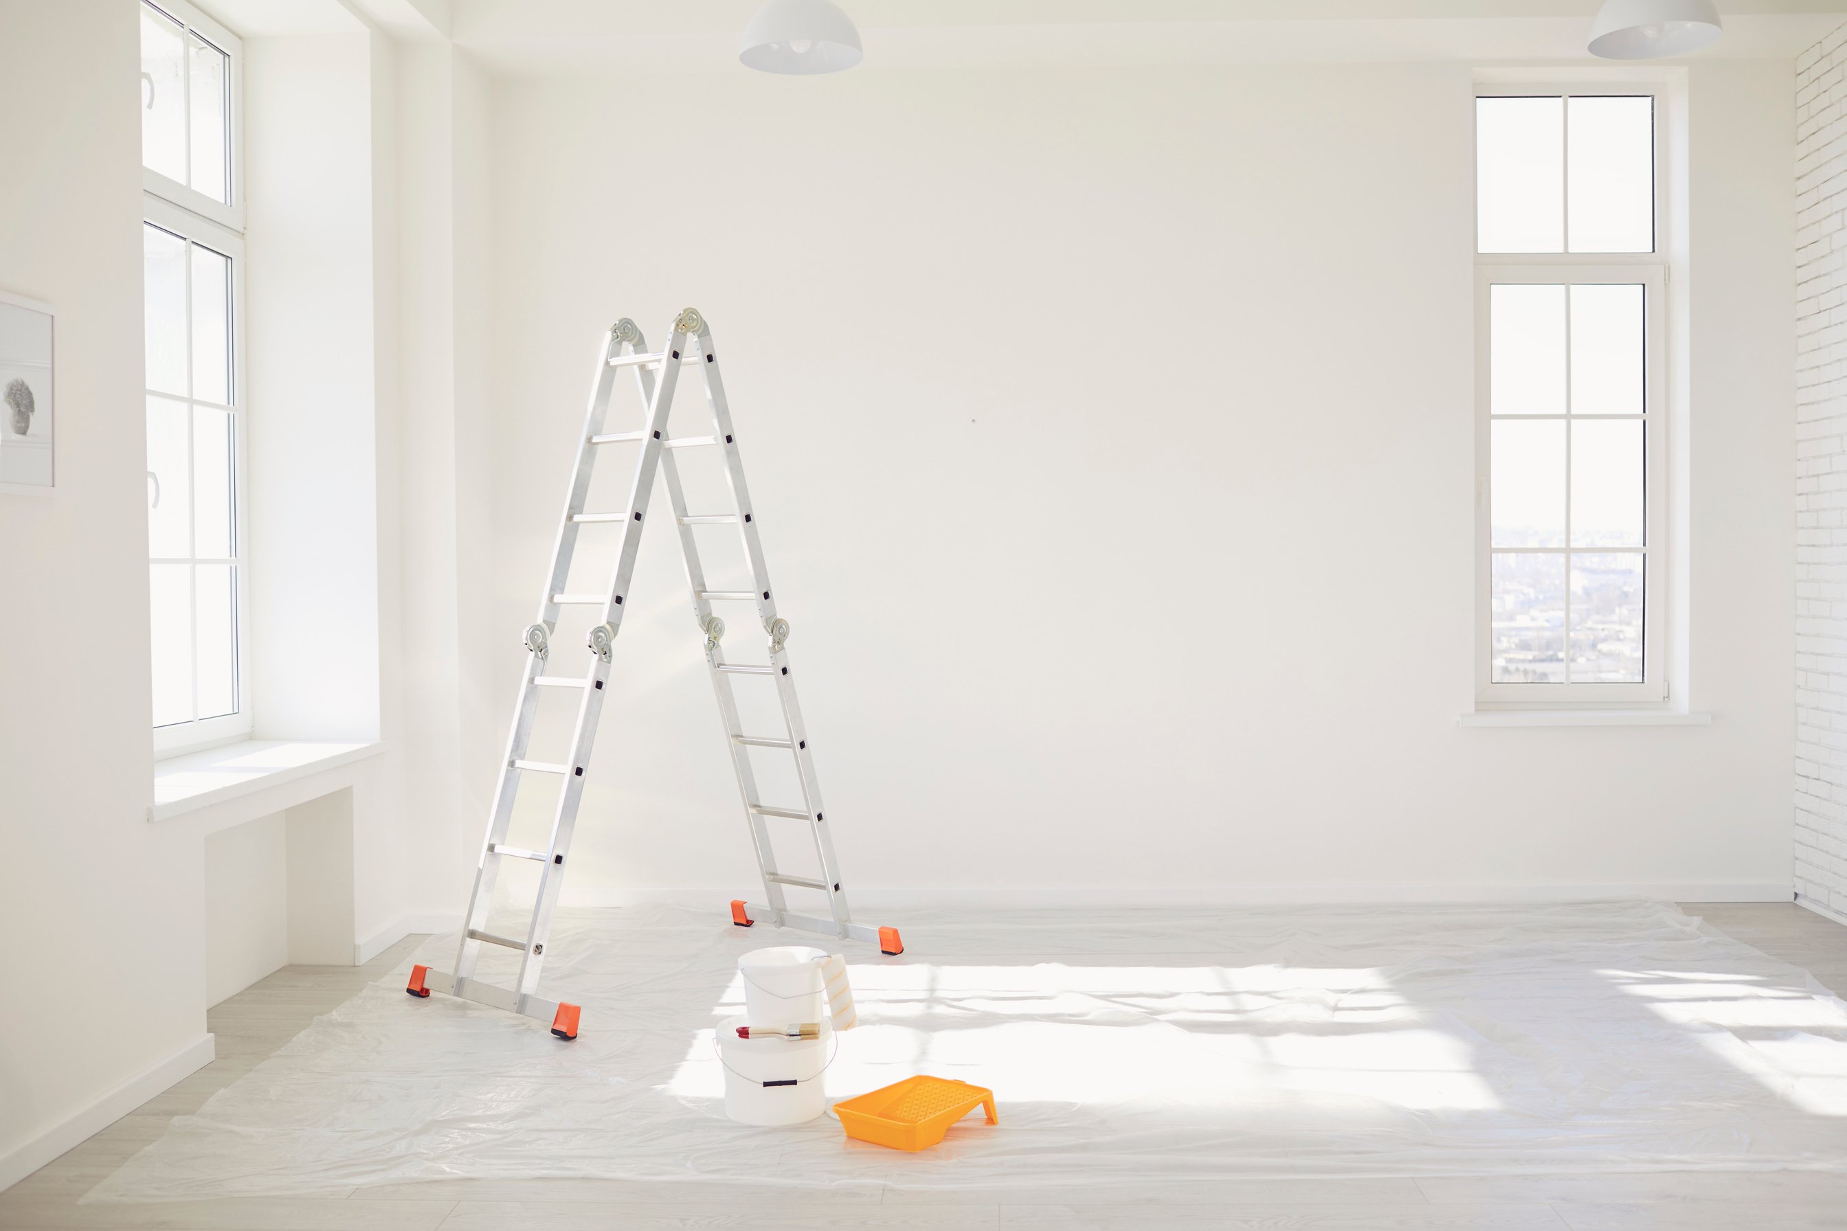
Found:
M 151 823 L 139 7 L 0 4 L 0 286 L 59 308 L 59 489 L 0 496 L 0 1187 L 207 1063 L 211 1000 L 412 923 L 393 55 L 327 9 L 246 42 L 249 666 L 259 736 L 386 751 Z

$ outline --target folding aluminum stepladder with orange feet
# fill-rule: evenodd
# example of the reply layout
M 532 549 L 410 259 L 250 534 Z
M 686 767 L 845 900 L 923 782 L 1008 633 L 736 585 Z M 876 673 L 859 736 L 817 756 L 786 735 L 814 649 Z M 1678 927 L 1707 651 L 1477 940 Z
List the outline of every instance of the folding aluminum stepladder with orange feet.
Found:
M 645 345 L 635 323 L 622 317 L 610 329 L 597 358 L 597 378 L 591 386 L 584 432 L 578 436 L 576 469 L 571 480 L 571 493 L 565 498 L 563 519 L 558 524 L 552 570 L 545 585 L 545 598 L 539 602 L 539 618 L 525 633 L 526 672 L 519 685 L 519 703 L 513 711 L 506 757 L 501 760 L 501 781 L 495 788 L 493 812 L 488 818 L 488 838 L 482 843 L 480 862 L 475 869 L 475 890 L 469 895 L 454 973 L 417 965 L 412 967 L 410 986 L 406 987 L 414 997 L 429 997 L 430 991 L 443 991 L 453 997 L 550 1022 L 552 1034 L 560 1039 L 576 1037 L 580 1006 L 539 997 L 539 971 L 545 962 L 545 941 L 550 932 L 552 914 L 558 906 L 558 890 L 563 884 L 565 856 L 584 795 L 584 771 L 589 764 L 591 746 L 597 738 L 597 720 L 602 714 L 602 701 L 608 692 L 615 635 L 622 624 L 624 598 L 628 598 L 635 552 L 641 546 L 656 471 L 659 471 L 665 482 L 674 526 L 680 530 L 687 585 L 693 591 L 693 615 L 700 633 L 706 637 L 706 664 L 711 670 L 713 690 L 718 696 L 718 716 L 724 722 L 726 742 L 731 749 L 731 768 L 737 773 L 744 819 L 757 853 L 757 869 L 763 873 L 765 902 L 733 901 L 731 923 L 746 928 L 755 923 L 774 923 L 820 936 L 874 941 L 885 954 L 903 952 L 898 928 L 853 923 L 848 914 L 846 895 L 840 891 L 840 869 L 835 862 L 833 840 L 827 836 L 827 818 L 822 810 L 820 784 L 815 777 L 815 759 L 809 751 L 807 727 L 802 723 L 802 709 L 796 703 L 794 677 L 791 675 L 789 651 L 785 650 L 789 622 L 776 615 L 776 591 L 770 587 L 768 568 L 763 563 L 763 544 L 757 539 L 755 513 L 750 504 L 750 491 L 744 485 L 744 467 L 737 452 L 731 412 L 724 399 L 724 382 L 718 376 L 718 356 L 711 345 L 711 327 L 696 310 L 687 308 L 674 317 L 667 345 L 661 351 L 646 353 Z M 704 376 L 706 406 L 711 412 L 711 436 L 676 437 L 667 432 L 680 369 L 689 365 L 696 365 Z M 637 376 L 641 400 L 646 410 L 646 424 L 641 432 L 608 434 L 604 432 L 604 419 L 610 410 L 615 380 L 624 369 L 632 369 Z M 589 513 L 584 509 L 584 502 L 589 495 L 597 456 L 602 448 L 621 443 L 641 445 L 641 456 L 635 461 L 634 482 L 630 484 L 628 508 L 613 513 Z M 724 472 L 733 506 L 730 513 L 687 513 L 674 450 L 694 447 L 722 448 Z M 622 546 L 617 556 L 615 574 L 610 580 L 610 591 L 608 594 L 567 594 L 563 587 L 571 574 L 578 528 L 597 522 L 619 522 L 622 526 Z M 755 589 L 706 589 L 706 570 L 700 565 L 698 544 L 693 537 L 693 528 L 702 524 L 737 524 Z M 767 664 L 726 661 L 720 646 L 724 620 L 713 613 L 713 602 L 755 604 L 763 631 L 768 635 L 770 661 Z M 589 670 L 584 675 L 549 675 L 545 670 L 552 653 L 550 637 L 558 627 L 558 609 L 563 605 L 602 607 L 602 624 L 593 627 L 587 637 Z M 787 738 L 757 736 L 742 731 L 737 698 L 731 692 L 731 679 L 735 675 L 768 675 L 774 679 L 787 725 Z M 582 692 L 576 725 L 571 735 L 571 759 L 563 764 L 526 759 L 541 688 L 578 688 Z M 802 784 L 800 808 L 781 808 L 763 803 L 757 795 L 757 783 L 750 766 L 752 747 L 778 747 L 794 755 Z M 506 845 L 506 834 L 513 821 L 513 799 L 521 781 L 528 773 L 563 777 L 563 790 L 558 795 L 558 807 L 552 816 L 550 845 L 545 851 L 525 851 Z M 807 823 L 822 878 L 789 877 L 776 871 L 770 819 Z M 486 930 L 488 910 L 493 904 L 495 877 L 501 869 L 501 860 L 506 858 L 536 860 L 541 864 L 537 899 L 532 906 L 525 939 L 495 936 Z M 827 917 L 791 912 L 783 897 L 785 886 L 826 893 Z M 501 945 L 521 952 L 519 974 L 512 987 L 475 976 L 482 945 Z

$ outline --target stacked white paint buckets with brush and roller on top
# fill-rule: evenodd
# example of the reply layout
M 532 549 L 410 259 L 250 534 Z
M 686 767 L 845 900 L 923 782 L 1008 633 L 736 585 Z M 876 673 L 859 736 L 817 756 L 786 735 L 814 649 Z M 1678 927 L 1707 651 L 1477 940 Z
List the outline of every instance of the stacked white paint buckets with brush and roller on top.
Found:
M 805 1124 L 827 1109 L 835 1032 L 853 1026 L 846 958 L 807 945 L 737 960 L 744 1015 L 718 1022 L 724 1113 L 739 1124 Z

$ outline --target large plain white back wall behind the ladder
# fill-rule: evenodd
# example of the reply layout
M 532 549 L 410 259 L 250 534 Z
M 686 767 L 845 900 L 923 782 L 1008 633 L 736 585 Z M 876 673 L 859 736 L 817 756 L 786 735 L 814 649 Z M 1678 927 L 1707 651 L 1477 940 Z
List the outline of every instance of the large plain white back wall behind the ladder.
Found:
M 1714 722 L 1485 731 L 1467 65 L 501 83 L 495 720 L 597 338 L 696 305 L 850 890 L 1786 895 L 1792 89 L 1690 76 Z M 650 537 L 580 901 L 754 882 L 683 585 Z

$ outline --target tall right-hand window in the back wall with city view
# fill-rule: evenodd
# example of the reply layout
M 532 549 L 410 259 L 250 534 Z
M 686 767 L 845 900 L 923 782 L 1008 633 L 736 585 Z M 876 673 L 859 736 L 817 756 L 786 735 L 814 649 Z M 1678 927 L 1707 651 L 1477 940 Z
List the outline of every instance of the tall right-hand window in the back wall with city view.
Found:
M 1478 701 L 1666 698 L 1649 90 L 1476 98 Z

